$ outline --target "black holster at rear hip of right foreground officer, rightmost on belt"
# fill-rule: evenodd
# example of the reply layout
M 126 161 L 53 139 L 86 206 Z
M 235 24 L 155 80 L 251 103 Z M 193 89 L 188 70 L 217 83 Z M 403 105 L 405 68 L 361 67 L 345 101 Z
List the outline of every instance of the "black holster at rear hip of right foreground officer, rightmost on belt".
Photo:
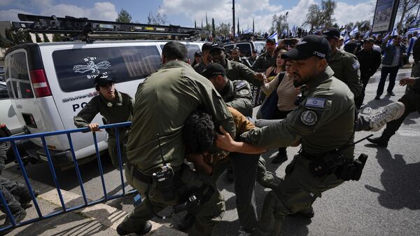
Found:
M 362 175 L 363 168 L 365 167 L 367 155 L 361 153 L 356 160 L 351 163 L 338 167 L 335 175 L 344 181 L 355 180 L 358 181 Z

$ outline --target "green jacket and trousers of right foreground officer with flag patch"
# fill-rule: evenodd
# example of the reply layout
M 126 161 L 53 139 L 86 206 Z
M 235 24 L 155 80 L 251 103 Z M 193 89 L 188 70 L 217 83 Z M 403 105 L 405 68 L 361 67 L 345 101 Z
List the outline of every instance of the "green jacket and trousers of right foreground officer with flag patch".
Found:
M 253 235 L 274 236 L 288 214 L 311 208 L 316 197 L 343 183 L 335 174 L 316 177 L 309 171 L 311 158 L 350 145 L 340 153 L 353 159 L 354 102 L 349 88 L 327 67 L 307 85 L 297 109 L 279 123 L 251 130 L 242 138 L 265 148 L 290 146 L 301 140 L 302 152 L 286 167 L 286 176 L 265 198 L 258 230 Z

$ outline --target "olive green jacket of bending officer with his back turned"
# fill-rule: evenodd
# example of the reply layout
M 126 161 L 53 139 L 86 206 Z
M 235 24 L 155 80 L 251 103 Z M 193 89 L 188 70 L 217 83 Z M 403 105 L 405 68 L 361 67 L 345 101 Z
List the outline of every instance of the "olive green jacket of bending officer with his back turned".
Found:
M 164 64 L 139 84 L 135 99 L 127 161 L 142 172 L 151 174 L 162 167 L 161 152 L 172 167 L 183 163 L 186 143 L 182 128 L 197 109 L 209 113 L 216 127 L 223 125 L 235 137 L 235 123 L 221 95 L 186 62 Z

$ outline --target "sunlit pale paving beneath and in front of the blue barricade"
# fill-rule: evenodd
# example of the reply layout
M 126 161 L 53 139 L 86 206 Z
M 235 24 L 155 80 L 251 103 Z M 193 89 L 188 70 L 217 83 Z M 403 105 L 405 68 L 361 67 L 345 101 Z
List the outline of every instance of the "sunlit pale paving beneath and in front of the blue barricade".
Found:
M 2 176 L 24 183 L 24 180 L 19 174 L 8 172 L 7 170 L 3 172 Z M 41 193 L 37 197 L 37 202 L 43 215 L 62 209 L 56 188 L 35 180 L 29 181 L 32 188 L 36 188 Z M 66 190 L 61 190 L 61 192 L 67 208 L 75 207 L 83 203 L 82 196 Z M 127 212 L 125 211 L 120 211 L 115 207 L 99 203 L 91 207 L 86 207 L 84 209 L 61 214 L 59 216 L 16 228 L 8 235 L 118 235 L 116 228 L 118 224 L 123 221 L 126 215 Z M 4 218 L 5 215 L 2 214 L 0 216 L 0 221 L 3 221 Z M 25 221 L 31 218 L 38 218 L 35 207 L 27 209 Z M 161 225 L 160 223 L 152 221 L 152 224 L 153 230 L 147 234 L 148 236 L 187 235 L 184 232 L 179 232 L 174 228 L 169 228 L 165 225 Z

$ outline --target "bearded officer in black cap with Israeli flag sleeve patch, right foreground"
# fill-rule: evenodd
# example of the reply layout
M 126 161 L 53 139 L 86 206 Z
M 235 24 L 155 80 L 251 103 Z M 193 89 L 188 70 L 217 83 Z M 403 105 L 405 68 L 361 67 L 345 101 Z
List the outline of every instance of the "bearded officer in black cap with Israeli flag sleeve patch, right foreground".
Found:
M 353 93 L 333 76 L 328 66 L 330 52 L 322 36 L 304 36 L 295 48 L 282 55 L 283 59 L 293 60 L 293 83 L 303 87 L 304 98 L 297 109 L 279 123 L 242 134 L 246 143 L 233 141 L 228 135 L 216 139 L 220 148 L 244 153 L 251 144 L 264 148 L 290 146 L 296 141 L 302 144 L 302 151 L 286 167 L 286 176 L 278 188 L 265 197 L 258 229 L 251 235 L 278 235 L 289 214 L 313 216 L 311 204 L 316 197 L 344 182 L 335 174 L 320 178 L 309 169 L 312 161 L 343 146 L 339 154 L 353 160 Z

